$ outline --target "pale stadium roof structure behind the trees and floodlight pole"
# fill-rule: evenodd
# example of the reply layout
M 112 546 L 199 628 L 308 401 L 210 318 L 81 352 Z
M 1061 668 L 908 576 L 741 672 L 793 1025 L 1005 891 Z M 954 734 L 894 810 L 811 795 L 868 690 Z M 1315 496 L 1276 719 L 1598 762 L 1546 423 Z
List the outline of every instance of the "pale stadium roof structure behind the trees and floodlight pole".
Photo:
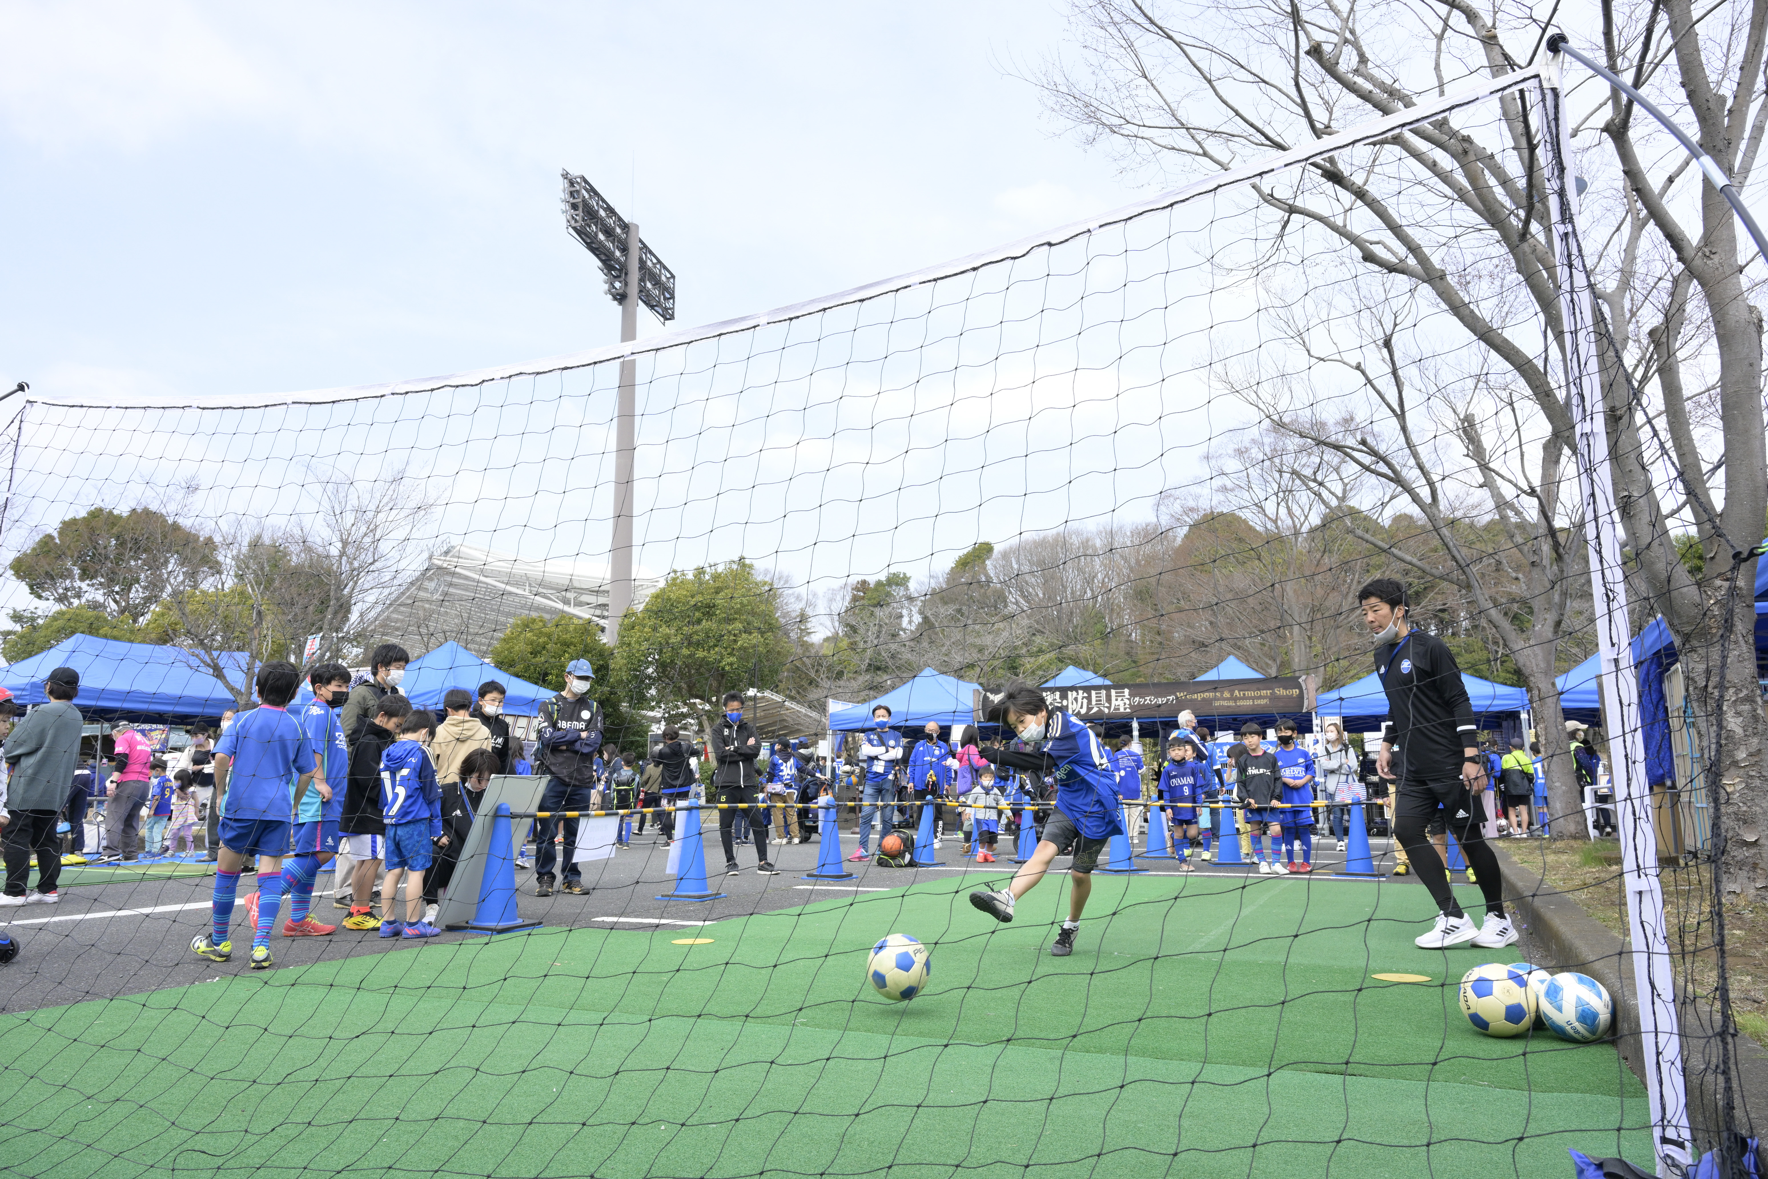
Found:
M 633 606 L 661 585 L 633 578 Z M 370 645 L 394 642 L 407 650 L 460 643 L 490 650 L 523 615 L 608 622 L 608 569 L 591 560 L 525 560 L 472 544 L 430 559 L 400 596 L 364 628 Z

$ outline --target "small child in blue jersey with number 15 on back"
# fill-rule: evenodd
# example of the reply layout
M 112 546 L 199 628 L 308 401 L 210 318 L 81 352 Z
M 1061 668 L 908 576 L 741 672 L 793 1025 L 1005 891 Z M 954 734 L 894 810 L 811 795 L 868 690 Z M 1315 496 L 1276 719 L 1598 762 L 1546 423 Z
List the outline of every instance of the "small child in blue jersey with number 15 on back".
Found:
M 431 840 L 442 834 L 442 785 L 430 762 L 428 744 L 435 735 L 435 716 L 412 712 L 400 725 L 400 739 L 380 755 L 380 806 L 387 824 L 387 875 L 380 884 L 382 937 L 435 937 L 442 930 L 423 921 L 424 871 L 433 857 Z M 392 917 L 405 880 L 405 921 Z

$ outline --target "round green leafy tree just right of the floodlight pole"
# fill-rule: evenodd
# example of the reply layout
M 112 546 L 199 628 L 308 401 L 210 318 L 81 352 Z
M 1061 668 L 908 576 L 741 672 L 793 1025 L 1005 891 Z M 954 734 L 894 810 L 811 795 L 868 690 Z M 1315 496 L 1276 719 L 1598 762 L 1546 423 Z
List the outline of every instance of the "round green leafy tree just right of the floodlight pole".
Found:
M 613 666 L 635 700 L 711 732 L 727 691 L 776 688 L 790 658 L 778 589 L 734 560 L 672 573 L 621 624 Z

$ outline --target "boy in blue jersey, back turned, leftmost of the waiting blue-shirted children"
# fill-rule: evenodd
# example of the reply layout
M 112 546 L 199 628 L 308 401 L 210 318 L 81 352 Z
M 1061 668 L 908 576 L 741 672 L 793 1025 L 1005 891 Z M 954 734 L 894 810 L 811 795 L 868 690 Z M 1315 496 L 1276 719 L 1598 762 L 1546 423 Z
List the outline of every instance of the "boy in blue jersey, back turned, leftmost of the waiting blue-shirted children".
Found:
M 258 857 L 260 905 L 251 937 L 251 969 L 271 963 L 271 926 L 283 905 L 283 856 L 292 834 L 290 815 L 313 781 L 313 744 L 288 714 L 288 702 L 301 686 L 293 663 L 274 659 L 258 668 L 258 707 L 240 712 L 216 746 L 216 795 L 226 801 L 221 815 L 221 848 L 216 864 L 212 930 L 191 939 L 191 951 L 210 962 L 233 956 L 226 928 L 233 919 L 239 870 L 248 856 Z M 293 797 L 290 797 L 293 781 Z M 331 790 L 320 787 L 322 797 Z

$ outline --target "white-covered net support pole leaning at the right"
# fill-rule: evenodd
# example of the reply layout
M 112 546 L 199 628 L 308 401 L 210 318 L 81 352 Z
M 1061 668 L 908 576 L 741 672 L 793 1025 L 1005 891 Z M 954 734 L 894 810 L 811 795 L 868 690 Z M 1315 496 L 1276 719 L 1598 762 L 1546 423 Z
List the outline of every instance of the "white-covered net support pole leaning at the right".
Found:
M 1669 939 L 1664 930 L 1664 891 L 1658 880 L 1657 838 L 1651 829 L 1651 799 L 1642 780 L 1639 679 L 1627 620 L 1627 578 L 1604 415 L 1595 288 L 1577 237 L 1570 129 L 1558 69 L 1561 60 L 1551 58 L 1549 69 L 1542 71 L 1545 187 L 1552 253 L 1559 270 L 1559 311 L 1565 320 L 1561 345 L 1575 430 L 1577 490 L 1589 541 L 1589 580 L 1602 652 L 1602 721 L 1609 730 L 1609 772 L 1621 836 L 1621 889 L 1632 935 L 1634 993 L 1639 1002 L 1639 1041 L 1651 1101 L 1653 1152 L 1657 1174 L 1681 1175 L 1688 1167 L 1692 1144 L 1688 1094 L 1683 1078 L 1676 981 L 1671 974 Z

